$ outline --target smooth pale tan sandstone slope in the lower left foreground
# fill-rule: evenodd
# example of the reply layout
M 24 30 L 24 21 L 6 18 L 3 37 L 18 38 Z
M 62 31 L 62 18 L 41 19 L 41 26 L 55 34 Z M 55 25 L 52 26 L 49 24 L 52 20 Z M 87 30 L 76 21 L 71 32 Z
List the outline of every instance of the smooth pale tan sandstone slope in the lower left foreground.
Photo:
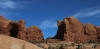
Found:
M 0 34 L 0 49 L 42 49 L 34 44 Z

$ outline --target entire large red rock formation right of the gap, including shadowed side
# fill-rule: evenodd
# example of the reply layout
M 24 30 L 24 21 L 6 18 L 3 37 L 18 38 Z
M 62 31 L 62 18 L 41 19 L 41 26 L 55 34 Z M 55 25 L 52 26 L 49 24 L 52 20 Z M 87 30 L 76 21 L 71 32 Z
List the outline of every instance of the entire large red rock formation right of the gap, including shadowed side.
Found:
M 100 27 L 92 24 L 82 24 L 74 17 L 57 21 L 58 31 L 54 36 L 67 42 L 89 42 L 100 39 Z

